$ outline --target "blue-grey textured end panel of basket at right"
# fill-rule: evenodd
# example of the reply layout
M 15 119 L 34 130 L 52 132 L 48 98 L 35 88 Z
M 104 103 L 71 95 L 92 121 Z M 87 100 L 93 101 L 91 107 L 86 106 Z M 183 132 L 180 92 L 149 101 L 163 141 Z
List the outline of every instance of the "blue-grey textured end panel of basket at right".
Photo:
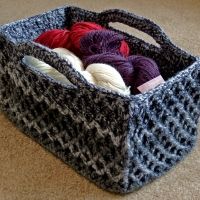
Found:
M 160 177 L 194 147 L 200 116 L 200 62 L 162 89 L 139 98 L 140 103 L 133 101 L 130 107 L 127 191 Z

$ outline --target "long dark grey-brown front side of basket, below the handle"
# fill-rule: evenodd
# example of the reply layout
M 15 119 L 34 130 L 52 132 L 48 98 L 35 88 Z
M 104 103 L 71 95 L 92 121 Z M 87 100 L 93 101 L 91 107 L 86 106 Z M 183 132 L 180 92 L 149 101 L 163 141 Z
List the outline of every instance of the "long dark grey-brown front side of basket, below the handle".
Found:
M 14 52 L 18 55 L 18 52 Z M 28 136 L 102 188 L 123 192 L 128 104 L 69 88 L 24 66 L 0 73 L 0 107 Z

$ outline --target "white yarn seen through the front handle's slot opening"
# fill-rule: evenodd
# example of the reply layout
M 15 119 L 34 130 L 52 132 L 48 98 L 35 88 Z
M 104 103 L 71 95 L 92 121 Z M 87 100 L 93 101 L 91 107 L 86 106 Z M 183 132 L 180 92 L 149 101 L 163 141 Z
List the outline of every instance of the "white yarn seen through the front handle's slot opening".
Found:
M 66 83 L 66 84 L 72 84 L 63 74 L 61 74 L 58 70 L 51 67 L 45 62 L 40 61 L 39 59 L 33 57 L 33 56 L 24 56 L 23 59 L 24 63 L 27 65 L 30 65 L 32 67 L 37 68 L 42 73 L 47 74 L 48 76 L 54 78 L 57 81 Z

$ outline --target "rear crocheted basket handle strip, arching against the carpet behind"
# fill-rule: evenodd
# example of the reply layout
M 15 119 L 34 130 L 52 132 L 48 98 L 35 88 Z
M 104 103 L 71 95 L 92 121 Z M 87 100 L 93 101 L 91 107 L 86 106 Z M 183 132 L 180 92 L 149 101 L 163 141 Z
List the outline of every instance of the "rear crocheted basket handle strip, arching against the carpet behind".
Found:
M 99 21 L 103 22 L 119 22 L 130 27 L 136 28 L 150 35 L 162 49 L 168 47 L 174 48 L 175 45 L 171 42 L 165 32 L 150 19 L 137 16 L 120 9 L 110 9 L 99 13 Z

